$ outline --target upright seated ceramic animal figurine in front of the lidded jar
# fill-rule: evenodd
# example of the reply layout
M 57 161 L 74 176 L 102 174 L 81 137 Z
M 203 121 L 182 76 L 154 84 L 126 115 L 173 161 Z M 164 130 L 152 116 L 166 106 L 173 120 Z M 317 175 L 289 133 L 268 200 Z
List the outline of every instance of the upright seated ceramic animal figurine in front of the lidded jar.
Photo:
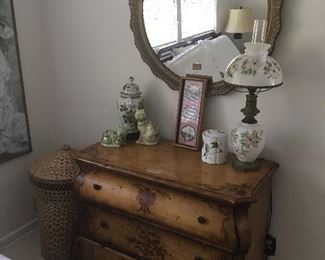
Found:
M 159 131 L 152 121 L 147 119 L 146 112 L 144 109 L 137 109 L 135 112 L 135 118 L 138 122 L 138 129 L 140 131 L 140 136 L 137 144 L 144 145 L 156 145 L 159 142 Z

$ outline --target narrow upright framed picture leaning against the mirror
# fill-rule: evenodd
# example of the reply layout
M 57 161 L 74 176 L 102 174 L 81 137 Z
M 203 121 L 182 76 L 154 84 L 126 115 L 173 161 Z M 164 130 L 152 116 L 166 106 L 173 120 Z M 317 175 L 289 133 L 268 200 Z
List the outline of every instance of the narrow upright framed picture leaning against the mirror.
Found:
M 211 77 L 186 75 L 182 79 L 178 102 L 175 145 L 198 150 L 201 141 L 202 114 Z

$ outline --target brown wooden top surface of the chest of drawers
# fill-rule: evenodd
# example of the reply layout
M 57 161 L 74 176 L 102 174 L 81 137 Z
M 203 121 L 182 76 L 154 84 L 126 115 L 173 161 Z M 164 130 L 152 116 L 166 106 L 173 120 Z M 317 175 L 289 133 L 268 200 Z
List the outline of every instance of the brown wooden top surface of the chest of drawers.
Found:
M 261 184 L 278 168 L 261 160 L 256 172 L 232 168 L 232 156 L 223 165 L 208 165 L 201 153 L 175 147 L 162 140 L 156 146 L 128 144 L 122 148 L 92 145 L 77 152 L 77 160 L 104 167 L 118 174 L 194 193 L 227 204 L 250 203 Z

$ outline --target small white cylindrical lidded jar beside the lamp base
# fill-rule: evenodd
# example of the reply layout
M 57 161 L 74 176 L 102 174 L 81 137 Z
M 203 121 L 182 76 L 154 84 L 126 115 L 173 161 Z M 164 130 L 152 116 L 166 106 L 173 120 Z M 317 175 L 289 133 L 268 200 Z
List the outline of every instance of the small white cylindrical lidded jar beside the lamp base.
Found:
M 223 164 L 227 161 L 227 134 L 217 129 L 202 133 L 202 161 L 208 164 Z

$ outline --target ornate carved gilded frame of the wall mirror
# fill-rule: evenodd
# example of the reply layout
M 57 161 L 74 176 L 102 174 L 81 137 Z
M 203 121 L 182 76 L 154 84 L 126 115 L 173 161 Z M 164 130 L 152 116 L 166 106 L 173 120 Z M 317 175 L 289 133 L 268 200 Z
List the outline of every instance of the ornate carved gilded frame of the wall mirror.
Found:
M 163 80 L 171 89 L 179 90 L 182 78 L 167 68 L 157 57 L 149 43 L 143 17 L 143 1 L 129 0 L 131 11 L 130 27 L 134 35 L 134 42 L 138 48 L 142 60 L 150 67 L 152 73 Z M 281 30 L 281 9 L 283 0 L 268 1 L 268 29 L 266 42 L 271 44 L 270 54 L 272 53 L 275 41 Z M 227 86 L 223 81 L 214 82 L 209 86 L 207 95 L 225 95 L 233 88 Z

